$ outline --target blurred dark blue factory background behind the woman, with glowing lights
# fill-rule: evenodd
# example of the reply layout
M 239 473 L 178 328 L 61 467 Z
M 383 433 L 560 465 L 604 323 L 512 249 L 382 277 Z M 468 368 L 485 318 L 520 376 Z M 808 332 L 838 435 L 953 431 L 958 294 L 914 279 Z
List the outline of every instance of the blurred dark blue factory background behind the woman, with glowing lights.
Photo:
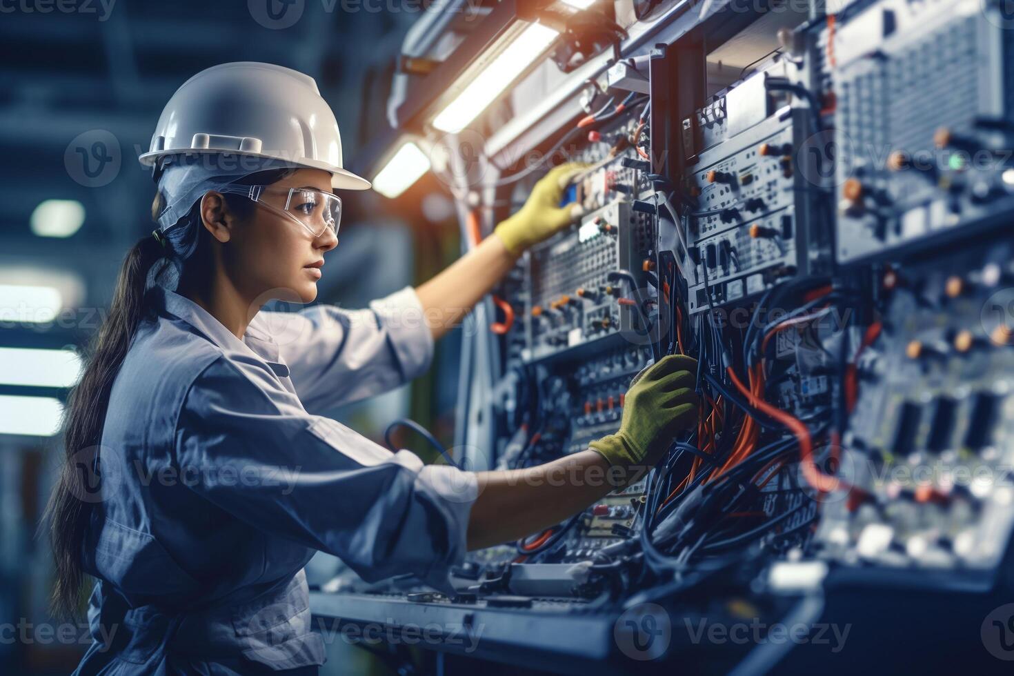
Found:
M 80 366 L 75 351 L 108 306 L 124 252 L 153 228 L 153 183 L 137 156 L 165 101 L 209 66 L 263 61 L 317 81 L 353 170 L 389 130 L 395 55 L 422 6 L 306 2 L 280 25 L 265 5 L 0 8 L 0 673 L 67 673 L 86 648 L 80 628 L 48 615 L 52 566 L 37 526 L 58 457 L 61 401 Z M 439 187 L 427 177 L 396 201 L 345 196 L 319 300 L 361 307 L 456 257 L 453 204 Z M 377 440 L 387 422 L 410 416 L 449 444 L 456 344 L 442 341 L 434 368 L 412 385 L 331 415 Z M 319 555 L 309 573 L 324 579 L 336 566 Z

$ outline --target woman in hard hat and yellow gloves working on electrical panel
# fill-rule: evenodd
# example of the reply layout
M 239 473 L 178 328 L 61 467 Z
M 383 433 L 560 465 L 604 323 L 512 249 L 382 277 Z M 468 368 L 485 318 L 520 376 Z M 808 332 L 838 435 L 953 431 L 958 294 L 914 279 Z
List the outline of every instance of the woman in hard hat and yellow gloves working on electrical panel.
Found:
M 613 487 L 607 468 L 629 479 L 693 423 L 684 358 L 631 387 L 618 434 L 514 472 L 424 466 L 310 412 L 423 372 L 433 341 L 570 222 L 559 204 L 574 166 L 418 289 L 282 315 L 261 306 L 316 297 L 338 243 L 332 191 L 369 185 L 342 168 L 313 80 L 266 64 L 204 71 L 141 160 L 159 228 L 128 253 L 70 398 L 50 508 L 58 607 L 73 612 L 83 574 L 96 580 L 78 673 L 315 673 L 302 573 L 314 550 L 366 580 L 412 573 L 452 592 L 466 549 L 577 513 Z

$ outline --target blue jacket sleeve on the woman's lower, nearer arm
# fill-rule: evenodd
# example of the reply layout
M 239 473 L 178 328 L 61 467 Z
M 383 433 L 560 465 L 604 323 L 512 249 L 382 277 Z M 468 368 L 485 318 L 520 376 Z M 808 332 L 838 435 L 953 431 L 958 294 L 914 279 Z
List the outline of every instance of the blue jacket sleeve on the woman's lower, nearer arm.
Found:
M 391 453 L 260 377 L 221 357 L 191 386 L 174 460 L 196 477 L 192 490 L 259 529 L 339 556 L 364 580 L 411 573 L 451 591 L 476 475 Z M 226 475 L 238 480 L 219 480 Z

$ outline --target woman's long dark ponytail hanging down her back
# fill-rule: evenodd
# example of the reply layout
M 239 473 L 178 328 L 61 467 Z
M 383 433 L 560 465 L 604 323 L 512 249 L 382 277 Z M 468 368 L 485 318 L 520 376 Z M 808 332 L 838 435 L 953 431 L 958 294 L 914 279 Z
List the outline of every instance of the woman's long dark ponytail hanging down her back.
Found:
M 81 548 L 95 506 L 92 501 L 81 499 L 80 482 L 92 476 L 113 380 L 145 314 L 148 275 L 165 254 L 165 248 L 153 235 L 142 238 L 127 253 L 108 316 L 91 341 L 84 373 L 67 401 L 65 462 L 47 507 L 56 565 L 53 610 L 58 615 L 73 616 L 80 606 Z M 98 477 L 100 467 L 99 464 Z

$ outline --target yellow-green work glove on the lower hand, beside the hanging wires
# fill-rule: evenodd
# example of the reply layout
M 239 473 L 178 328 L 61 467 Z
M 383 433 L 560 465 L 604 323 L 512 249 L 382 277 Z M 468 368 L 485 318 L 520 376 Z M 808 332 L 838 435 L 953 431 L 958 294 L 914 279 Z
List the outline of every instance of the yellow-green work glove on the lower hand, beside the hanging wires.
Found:
M 697 360 L 669 355 L 631 382 L 620 431 L 591 442 L 610 465 L 637 465 L 697 423 Z

